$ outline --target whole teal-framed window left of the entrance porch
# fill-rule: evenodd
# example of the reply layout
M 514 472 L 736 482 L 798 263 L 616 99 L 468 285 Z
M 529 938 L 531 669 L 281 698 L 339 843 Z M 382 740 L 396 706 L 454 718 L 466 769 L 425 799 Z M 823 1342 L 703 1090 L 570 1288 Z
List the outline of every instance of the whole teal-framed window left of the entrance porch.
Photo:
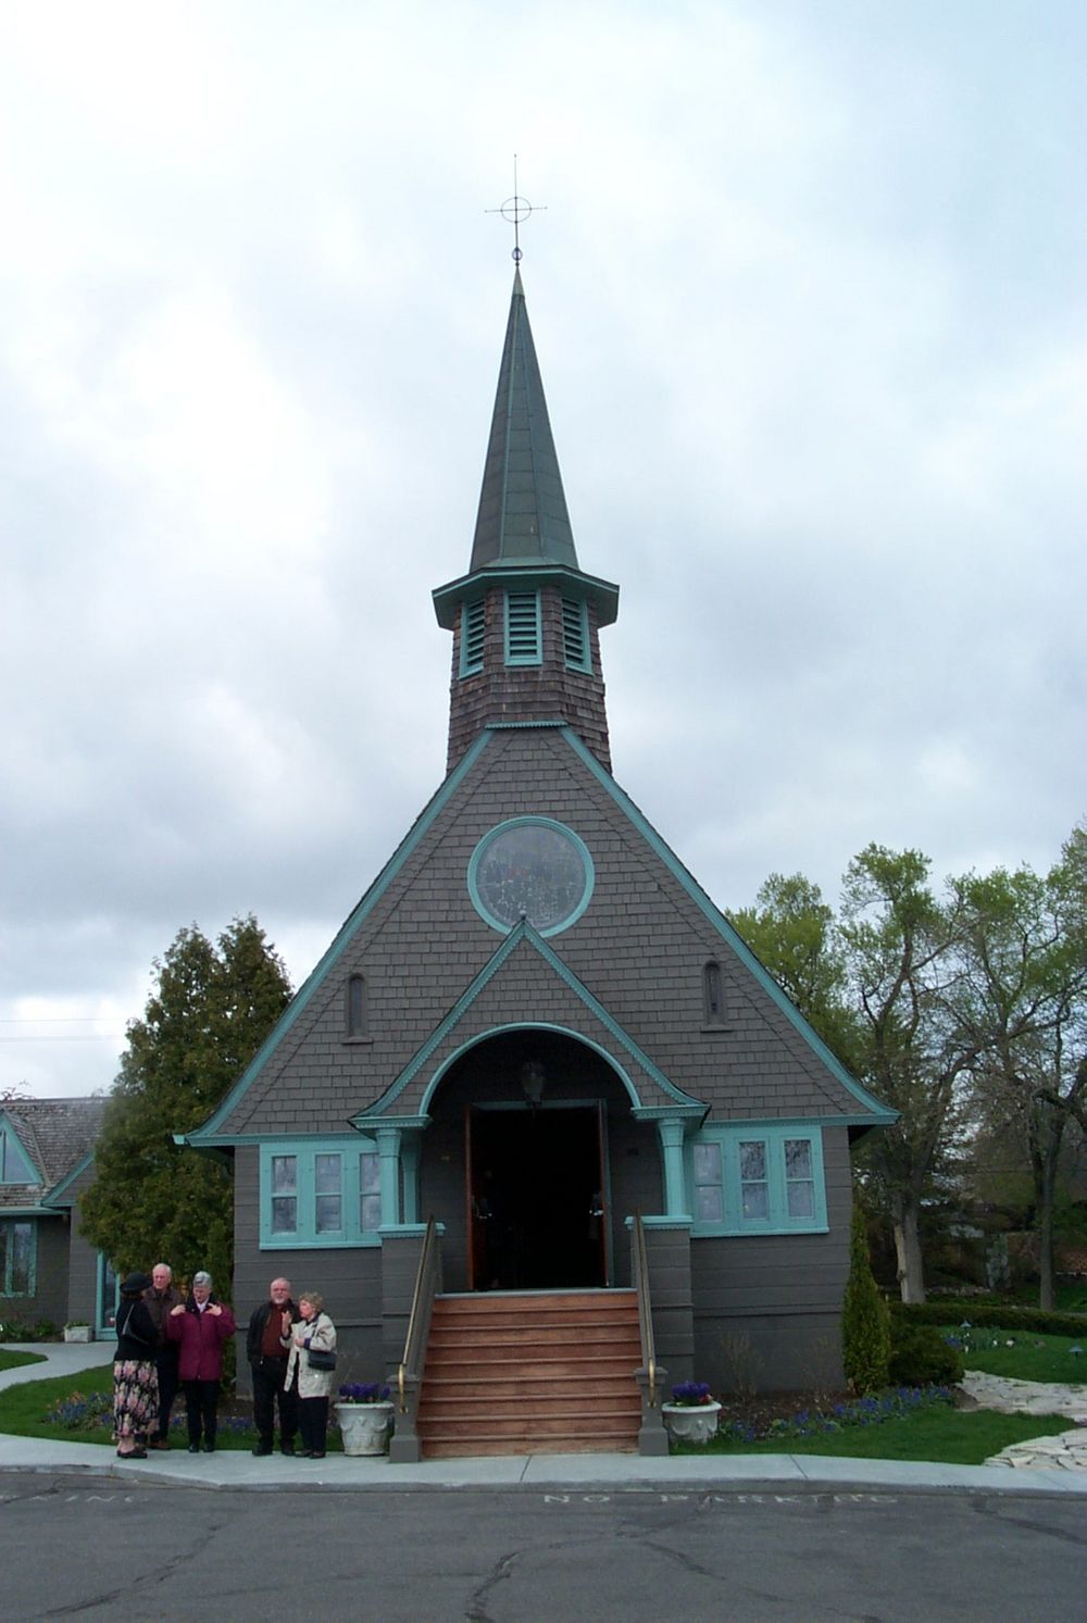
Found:
M 261 1251 L 380 1245 L 376 1139 L 264 1139 L 260 1214 Z

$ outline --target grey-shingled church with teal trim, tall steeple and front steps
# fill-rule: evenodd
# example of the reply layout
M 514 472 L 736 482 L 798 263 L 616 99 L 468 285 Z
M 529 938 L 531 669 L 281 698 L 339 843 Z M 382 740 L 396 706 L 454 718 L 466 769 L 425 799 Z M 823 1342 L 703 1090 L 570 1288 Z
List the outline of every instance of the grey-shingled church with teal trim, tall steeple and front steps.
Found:
M 612 776 L 618 588 L 578 560 L 519 268 L 469 568 L 433 605 L 445 781 L 188 1134 L 234 1160 L 235 1303 L 276 1274 L 321 1290 L 342 1380 L 370 1381 L 396 1375 L 414 1308 L 425 1453 L 537 1446 L 531 1371 L 573 1396 L 597 1352 L 634 1401 L 615 1446 L 636 1446 L 647 1329 L 668 1386 L 840 1384 L 850 1141 L 894 1113 Z M 443 1357 L 475 1371 L 470 1446 L 435 1419 Z M 584 1417 L 535 1435 L 608 1446 Z

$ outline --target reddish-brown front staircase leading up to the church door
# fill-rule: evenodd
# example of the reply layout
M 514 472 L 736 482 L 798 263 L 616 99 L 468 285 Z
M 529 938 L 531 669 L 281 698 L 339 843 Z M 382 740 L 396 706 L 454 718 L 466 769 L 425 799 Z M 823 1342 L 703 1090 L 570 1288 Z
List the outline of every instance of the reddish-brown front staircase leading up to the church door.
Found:
M 633 1290 L 435 1297 L 423 1457 L 636 1453 L 639 1363 Z

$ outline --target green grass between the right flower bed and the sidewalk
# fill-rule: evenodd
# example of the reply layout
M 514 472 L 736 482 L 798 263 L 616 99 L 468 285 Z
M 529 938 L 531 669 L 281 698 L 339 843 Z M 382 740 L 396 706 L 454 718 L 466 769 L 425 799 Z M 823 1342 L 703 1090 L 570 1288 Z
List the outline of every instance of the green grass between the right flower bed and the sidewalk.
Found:
M 938 1404 L 879 1425 L 850 1425 L 811 1436 L 772 1436 L 761 1443 L 717 1436 L 712 1443 L 673 1444 L 677 1454 L 832 1454 L 836 1459 L 917 1459 L 930 1464 L 982 1466 L 1009 1443 L 1071 1430 L 1061 1415 L 1001 1415 L 991 1409 Z

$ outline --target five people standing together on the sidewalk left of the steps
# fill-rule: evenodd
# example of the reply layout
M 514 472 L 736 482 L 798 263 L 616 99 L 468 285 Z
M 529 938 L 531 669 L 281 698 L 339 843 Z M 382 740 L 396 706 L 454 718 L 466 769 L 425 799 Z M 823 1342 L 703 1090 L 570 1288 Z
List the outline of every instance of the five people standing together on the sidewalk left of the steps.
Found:
M 217 1302 L 211 1274 L 193 1274 L 188 1295 L 174 1285 L 167 1263 L 151 1277 L 128 1274 L 117 1308 L 114 1358 L 114 1441 L 120 1459 L 146 1459 L 148 1449 L 170 1446 L 170 1409 L 185 1391 L 188 1453 L 216 1448 L 222 1352 L 237 1329 L 234 1313 Z M 310 1357 L 313 1354 L 313 1358 Z M 279 1449 L 324 1459 L 328 1401 L 336 1363 L 336 1326 L 315 1290 L 290 1297 L 289 1279 L 273 1279 L 269 1300 L 248 1324 L 247 1355 L 253 1370 L 255 1454 L 271 1454 L 279 1407 Z

